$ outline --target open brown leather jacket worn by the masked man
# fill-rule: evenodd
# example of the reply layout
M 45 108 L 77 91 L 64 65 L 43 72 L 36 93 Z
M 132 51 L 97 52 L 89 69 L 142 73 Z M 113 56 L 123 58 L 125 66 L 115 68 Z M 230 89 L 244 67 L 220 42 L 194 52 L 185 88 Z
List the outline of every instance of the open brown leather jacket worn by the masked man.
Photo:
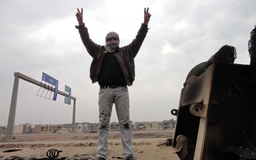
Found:
M 84 25 L 76 26 L 76 28 L 79 30 L 79 34 L 87 52 L 93 58 L 90 68 L 90 77 L 92 79 L 92 83 L 98 82 L 102 60 L 106 54 L 103 53 L 105 48 L 102 45 L 94 43 L 92 39 L 90 39 L 88 29 Z M 147 33 L 147 26 L 141 24 L 138 34 L 135 39 L 133 39 L 132 43 L 123 47 L 119 47 L 117 52 L 114 54 L 124 72 L 128 86 L 132 86 L 132 83 L 135 79 L 134 58 L 139 52 L 140 46 L 142 45 Z

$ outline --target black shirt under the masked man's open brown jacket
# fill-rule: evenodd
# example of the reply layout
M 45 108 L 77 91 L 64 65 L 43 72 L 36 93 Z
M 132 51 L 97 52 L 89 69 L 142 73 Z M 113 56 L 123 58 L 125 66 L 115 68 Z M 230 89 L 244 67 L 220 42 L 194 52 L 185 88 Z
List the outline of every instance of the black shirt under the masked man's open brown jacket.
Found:
M 116 57 L 115 52 L 103 53 L 105 54 L 102 66 L 100 68 L 98 82 L 100 86 L 111 86 L 120 85 L 126 86 L 127 82 L 124 76 L 124 72 L 120 67 Z

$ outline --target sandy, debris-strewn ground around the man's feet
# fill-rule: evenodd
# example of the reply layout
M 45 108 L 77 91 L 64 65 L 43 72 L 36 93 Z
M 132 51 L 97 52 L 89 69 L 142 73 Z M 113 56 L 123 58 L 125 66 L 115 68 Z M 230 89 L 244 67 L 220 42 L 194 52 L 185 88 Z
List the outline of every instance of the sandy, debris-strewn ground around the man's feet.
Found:
M 179 159 L 171 146 L 156 146 L 165 140 L 148 140 L 150 138 L 170 138 L 172 133 L 135 133 L 132 138 L 145 138 L 147 141 L 133 141 L 134 156 L 137 159 Z M 18 143 L 0 143 L 0 159 L 49 159 L 46 152 L 57 149 L 62 152 L 55 159 L 95 159 L 97 142 L 81 142 L 83 140 L 97 140 L 97 134 L 82 135 L 42 135 L 16 137 Z M 120 134 L 109 134 L 108 159 L 124 159 Z M 69 141 L 72 143 L 54 143 L 52 141 Z M 115 141 L 111 141 L 115 140 Z M 44 143 L 42 143 L 42 141 Z M 51 143 L 47 143 L 51 141 Z M 28 143 L 35 142 L 35 143 Z M 18 151 L 3 152 L 11 149 Z M 21 149 L 21 150 L 19 150 Z

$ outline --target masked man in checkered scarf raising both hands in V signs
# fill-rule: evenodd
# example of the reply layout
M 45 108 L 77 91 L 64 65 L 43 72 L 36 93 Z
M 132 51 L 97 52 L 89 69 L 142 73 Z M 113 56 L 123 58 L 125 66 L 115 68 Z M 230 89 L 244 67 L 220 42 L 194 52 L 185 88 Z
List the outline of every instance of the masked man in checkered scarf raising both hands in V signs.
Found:
M 92 83 L 98 82 L 99 91 L 99 140 L 96 160 L 107 159 L 108 131 L 113 103 L 115 103 L 119 127 L 122 136 L 124 157 L 134 160 L 132 134 L 130 125 L 130 103 L 127 85 L 131 86 L 135 79 L 134 58 L 148 32 L 151 14 L 144 10 L 144 22 L 132 43 L 119 47 L 119 36 L 111 31 L 106 36 L 106 45 L 95 44 L 83 22 L 83 9 L 77 9 L 76 17 L 82 42 L 93 60 L 90 67 Z

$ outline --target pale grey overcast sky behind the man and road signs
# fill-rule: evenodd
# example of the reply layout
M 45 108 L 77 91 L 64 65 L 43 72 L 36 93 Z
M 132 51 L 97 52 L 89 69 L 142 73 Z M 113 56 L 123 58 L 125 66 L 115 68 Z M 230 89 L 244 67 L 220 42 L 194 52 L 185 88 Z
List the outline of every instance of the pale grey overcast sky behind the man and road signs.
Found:
M 223 45 L 237 50 L 235 63 L 249 65 L 247 43 L 256 25 L 256 1 L 0 1 L 0 125 L 7 124 L 15 72 L 41 81 L 42 72 L 71 87 L 76 122 L 98 122 L 98 83 L 89 77 L 92 57 L 78 30 L 77 7 L 91 39 L 105 45 L 115 31 L 120 46 L 130 44 L 152 15 L 147 37 L 135 58 L 135 81 L 129 87 L 132 121 L 176 118 L 180 92 L 189 71 Z M 72 122 L 71 105 L 38 97 L 39 86 L 20 79 L 15 125 Z M 113 107 L 111 122 L 117 122 Z

